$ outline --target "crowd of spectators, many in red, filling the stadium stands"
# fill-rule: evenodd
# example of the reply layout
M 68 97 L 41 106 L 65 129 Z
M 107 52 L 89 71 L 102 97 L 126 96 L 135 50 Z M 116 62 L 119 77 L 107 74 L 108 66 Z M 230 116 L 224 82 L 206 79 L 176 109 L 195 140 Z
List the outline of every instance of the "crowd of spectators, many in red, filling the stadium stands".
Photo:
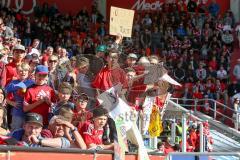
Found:
M 230 11 L 220 15 L 214 0 L 209 6 L 180 0 L 154 14 L 138 12 L 132 38 L 124 39 L 108 34 L 96 5 L 75 16 L 47 3 L 32 16 L 1 8 L 1 135 L 30 147 L 113 149 L 116 129 L 96 97 L 121 83 L 119 96 L 140 112 L 139 97 L 161 93 L 161 83 L 143 83 L 149 64 L 162 63 L 184 86 L 170 86 L 173 97 L 228 105 L 240 92 L 237 81 L 229 85 L 234 17 Z M 188 151 L 199 151 L 198 126 L 189 126 Z M 211 145 L 207 123 L 205 129 Z M 159 149 L 179 151 L 166 137 Z

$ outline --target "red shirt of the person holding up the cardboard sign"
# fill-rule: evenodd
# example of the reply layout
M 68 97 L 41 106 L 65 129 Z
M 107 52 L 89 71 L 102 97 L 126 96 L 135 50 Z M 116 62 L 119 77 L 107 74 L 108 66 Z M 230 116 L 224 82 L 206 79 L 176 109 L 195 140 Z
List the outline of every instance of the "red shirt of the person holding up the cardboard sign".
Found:
M 121 68 L 109 69 L 104 67 L 94 79 L 92 86 L 94 88 L 106 91 L 107 89 L 121 83 L 123 88 L 127 88 L 126 73 Z

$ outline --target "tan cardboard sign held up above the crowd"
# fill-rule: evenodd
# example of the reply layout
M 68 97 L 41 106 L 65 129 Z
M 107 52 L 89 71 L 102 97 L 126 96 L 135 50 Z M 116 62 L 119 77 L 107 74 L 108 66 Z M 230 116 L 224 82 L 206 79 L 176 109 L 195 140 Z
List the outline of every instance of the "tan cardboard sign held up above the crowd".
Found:
M 123 37 L 132 36 L 134 10 L 111 6 L 110 34 L 121 34 Z

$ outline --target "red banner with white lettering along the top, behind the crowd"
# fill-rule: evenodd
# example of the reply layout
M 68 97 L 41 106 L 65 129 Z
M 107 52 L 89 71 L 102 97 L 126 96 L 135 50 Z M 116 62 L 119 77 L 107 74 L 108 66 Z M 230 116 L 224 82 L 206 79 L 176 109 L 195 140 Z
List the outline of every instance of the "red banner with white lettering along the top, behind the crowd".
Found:
M 163 2 L 174 0 L 107 0 L 107 15 L 110 13 L 110 7 L 121 7 L 134 10 L 156 10 L 159 9 Z M 205 0 L 207 4 L 211 0 Z M 230 8 L 230 0 L 216 0 L 220 5 L 221 13 L 224 13 Z M 91 12 L 93 0 L 1 0 L 0 4 L 5 7 L 12 7 L 15 11 L 21 10 L 24 14 L 33 13 L 36 5 L 42 6 L 47 3 L 48 6 L 56 4 L 57 8 L 62 13 L 76 14 L 82 8 L 86 7 Z M 109 17 L 109 16 L 108 16 Z

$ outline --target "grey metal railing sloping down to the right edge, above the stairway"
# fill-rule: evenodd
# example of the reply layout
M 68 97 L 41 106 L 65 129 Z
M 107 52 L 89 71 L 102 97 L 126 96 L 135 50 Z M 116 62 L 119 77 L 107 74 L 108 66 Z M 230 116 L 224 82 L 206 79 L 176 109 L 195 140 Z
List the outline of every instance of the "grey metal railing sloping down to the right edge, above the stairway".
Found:
M 234 124 L 234 126 L 235 126 L 234 128 L 236 130 L 239 129 L 240 114 L 238 112 L 236 112 L 234 109 L 232 109 L 232 108 L 228 107 L 227 105 L 222 104 L 214 99 L 171 98 L 171 100 L 183 107 L 194 109 L 195 112 L 198 110 L 197 108 L 200 108 L 202 113 L 204 113 L 205 102 L 208 102 L 209 103 L 208 109 L 210 112 L 210 113 L 207 113 L 208 116 L 211 116 L 214 120 L 216 120 L 216 119 L 218 119 L 217 116 L 219 115 L 222 117 L 220 119 L 220 121 L 224 122 L 226 119 L 228 119 Z M 218 111 L 218 109 L 222 109 L 223 113 Z M 232 112 L 232 114 L 235 114 L 236 117 L 233 118 L 232 116 L 230 117 L 229 115 L 226 115 L 225 113 L 227 110 Z

